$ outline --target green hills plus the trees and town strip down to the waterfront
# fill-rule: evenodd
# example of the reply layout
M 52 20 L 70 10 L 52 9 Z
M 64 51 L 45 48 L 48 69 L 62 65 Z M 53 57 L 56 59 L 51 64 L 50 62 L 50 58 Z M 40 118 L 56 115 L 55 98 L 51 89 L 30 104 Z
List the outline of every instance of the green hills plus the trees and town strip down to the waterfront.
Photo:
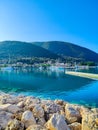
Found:
M 22 64 L 52 64 L 55 62 L 70 63 L 75 62 L 80 65 L 94 66 L 98 63 L 98 54 L 67 42 L 20 42 L 4 41 L 0 42 L 0 63 L 22 63 Z

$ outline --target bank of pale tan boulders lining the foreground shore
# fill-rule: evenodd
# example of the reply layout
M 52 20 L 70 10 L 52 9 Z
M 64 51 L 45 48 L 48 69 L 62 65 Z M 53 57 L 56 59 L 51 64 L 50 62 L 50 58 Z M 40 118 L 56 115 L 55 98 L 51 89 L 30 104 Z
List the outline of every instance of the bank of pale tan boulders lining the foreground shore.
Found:
M 0 130 L 98 130 L 98 109 L 1 94 Z

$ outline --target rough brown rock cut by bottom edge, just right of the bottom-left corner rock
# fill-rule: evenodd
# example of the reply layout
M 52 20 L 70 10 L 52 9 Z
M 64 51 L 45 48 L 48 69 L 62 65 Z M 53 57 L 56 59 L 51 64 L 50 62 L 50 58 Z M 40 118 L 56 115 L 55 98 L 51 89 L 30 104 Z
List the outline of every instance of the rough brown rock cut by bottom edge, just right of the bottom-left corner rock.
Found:
M 5 130 L 24 130 L 24 124 L 14 119 L 8 123 Z

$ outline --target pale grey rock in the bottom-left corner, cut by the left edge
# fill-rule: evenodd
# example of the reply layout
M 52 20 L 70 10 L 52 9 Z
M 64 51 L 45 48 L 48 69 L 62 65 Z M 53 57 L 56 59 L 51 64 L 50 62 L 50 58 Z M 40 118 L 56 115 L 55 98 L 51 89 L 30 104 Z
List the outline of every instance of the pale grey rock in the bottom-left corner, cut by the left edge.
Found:
M 2 129 L 5 129 L 10 120 L 12 120 L 11 113 L 0 111 L 0 126 Z

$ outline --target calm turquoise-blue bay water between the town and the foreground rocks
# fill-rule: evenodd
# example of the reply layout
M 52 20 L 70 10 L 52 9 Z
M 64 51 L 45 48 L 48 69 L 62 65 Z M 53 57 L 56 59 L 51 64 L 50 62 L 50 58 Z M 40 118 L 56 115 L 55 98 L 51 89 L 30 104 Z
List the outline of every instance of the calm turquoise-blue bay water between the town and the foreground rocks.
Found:
M 69 76 L 63 71 L 0 71 L 0 90 L 98 107 L 98 81 Z

